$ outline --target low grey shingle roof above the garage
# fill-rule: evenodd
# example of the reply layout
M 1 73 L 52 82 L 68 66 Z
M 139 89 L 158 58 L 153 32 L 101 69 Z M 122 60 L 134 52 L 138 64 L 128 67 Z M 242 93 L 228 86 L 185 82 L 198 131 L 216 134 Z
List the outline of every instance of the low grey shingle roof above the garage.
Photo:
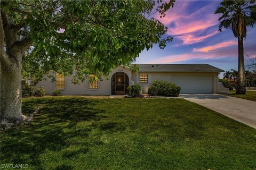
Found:
M 224 72 L 209 64 L 136 64 L 140 72 Z

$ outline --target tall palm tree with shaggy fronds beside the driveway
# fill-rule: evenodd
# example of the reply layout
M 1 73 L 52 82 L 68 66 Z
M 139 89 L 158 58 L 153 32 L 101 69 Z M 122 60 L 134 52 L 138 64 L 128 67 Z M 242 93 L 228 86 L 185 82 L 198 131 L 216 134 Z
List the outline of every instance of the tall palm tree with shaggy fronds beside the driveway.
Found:
M 219 21 L 219 31 L 222 28 L 231 28 L 234 36 L 238 39 L 238 81 L 236 94 L 245 94 L 244 75 L 244 45 L 243 39 L 246 37 L 246 27 L 256 22 L 256 1 L 222 1 L 217 7 L 215 14 L 221 14 Z

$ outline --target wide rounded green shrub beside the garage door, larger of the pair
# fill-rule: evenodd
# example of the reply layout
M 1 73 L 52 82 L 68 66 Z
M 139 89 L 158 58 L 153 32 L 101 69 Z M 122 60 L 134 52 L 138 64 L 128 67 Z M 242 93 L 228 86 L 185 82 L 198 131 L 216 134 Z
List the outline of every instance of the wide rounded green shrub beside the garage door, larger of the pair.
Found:
M 177 97 L 180 94 L 180 87 L 167 81 L 153 81 L 148 89 L 150 96 L 172 96 Z

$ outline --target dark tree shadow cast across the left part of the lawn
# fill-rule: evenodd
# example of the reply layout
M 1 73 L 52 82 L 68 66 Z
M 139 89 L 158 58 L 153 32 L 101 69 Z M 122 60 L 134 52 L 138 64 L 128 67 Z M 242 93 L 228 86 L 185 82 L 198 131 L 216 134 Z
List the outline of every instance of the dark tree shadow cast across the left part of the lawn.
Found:
M 36 165 L 39 169 L 43 168 L 39 156 L 45 150 L 59 151 L 70 145 L 76 145 L 74 141 L 68 139 L 88 136 L 93 127 L 86 126 L 81 129 L 76 128 L 76 125 L 82 121 L 99 121 L 103 117 L 99 113 L 104 111 L 94 108 L 98 102 L 84 98 L 38 98 L 23 102 L 23 113 L 33 112 L 37 105 L 44 106 L 34 117 L 33 123 L 27 127 L 8 130 L 1 134 L 1 163 L 29 164 Z M 88 143 L 83 145 L 85 148 L 82 150 L 67 152 L 63 156 L 72 157 L 78 152 L 87 152 Z M 67 165 L 57 167 L 57 169 L 72 168 Z

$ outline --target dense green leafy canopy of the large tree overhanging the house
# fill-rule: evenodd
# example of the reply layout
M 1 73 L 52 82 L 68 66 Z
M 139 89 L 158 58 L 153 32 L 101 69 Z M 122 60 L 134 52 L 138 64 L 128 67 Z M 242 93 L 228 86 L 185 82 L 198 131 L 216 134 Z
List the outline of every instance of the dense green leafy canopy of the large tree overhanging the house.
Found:
M 111 68 L 130 65 L 143 49 L 164 48 L 167 27 L 147 16 L 155 1 L 1 1 L 3 25 L 12 18 L 17 43 L 31 46 L 22 57 L 23 75 L 42 77 L 54 71 L 107 75 Z M 174 1 L 158 1 L 161 16 Z M 4 20 L 6 18 L 6 20 Z

